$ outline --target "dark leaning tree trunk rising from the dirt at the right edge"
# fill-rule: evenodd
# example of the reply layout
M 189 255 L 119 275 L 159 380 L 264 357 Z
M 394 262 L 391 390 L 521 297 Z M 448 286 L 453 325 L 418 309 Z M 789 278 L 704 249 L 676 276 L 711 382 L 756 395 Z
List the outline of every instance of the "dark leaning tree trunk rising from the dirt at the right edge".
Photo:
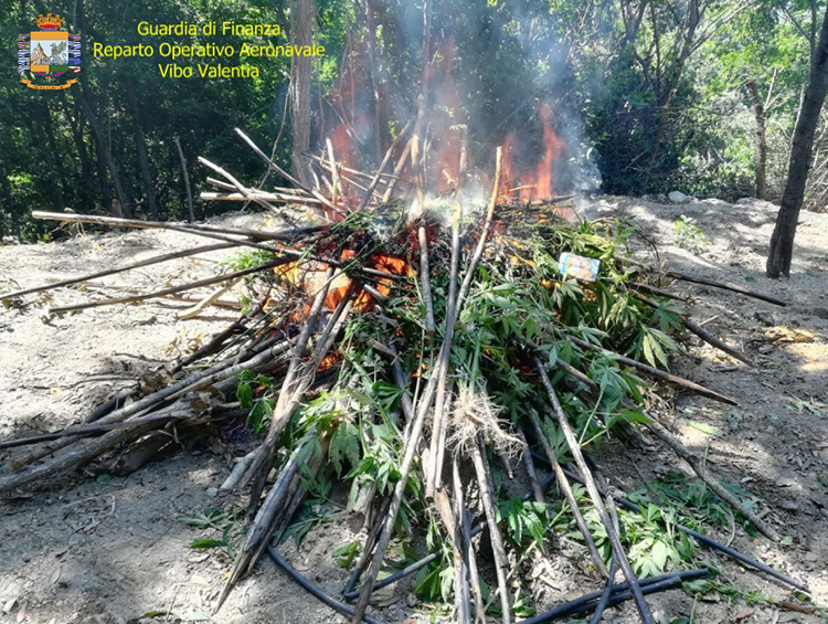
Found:
M 826 94 L 828 94 L 828 7 L 819 31 L 819 43 L 810 60 L 810 78 L 794 129 L 785 192 L 776 216 L 776 226 L 771 236 L 771 251 L 765 268 L 767 276 L 774 279 L 779 275 L 785 277 L 790 275 L 796 224 L 805 198 L 805 184 L 808 181 L 808 169 L 813 161 L 814 136 Z

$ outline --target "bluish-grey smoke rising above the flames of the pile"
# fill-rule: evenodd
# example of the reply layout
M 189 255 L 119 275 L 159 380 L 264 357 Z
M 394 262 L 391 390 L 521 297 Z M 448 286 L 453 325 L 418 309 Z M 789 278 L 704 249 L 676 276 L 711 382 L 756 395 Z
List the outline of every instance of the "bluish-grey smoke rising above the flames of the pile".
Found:
M 518 199 L 596 189 L 601 176 L 576 108 L 569 50 L 549 3 L 427 1 L 365 0 L 374 31 L 362 45 L 352 42 L 343 63 L 349 68 L 332 99 L 349 121 L 350 146 L 337 150 L 375 163 L 389 142 L 383 119 L 415 118 L 422 94 L 428 190 L 456 186 L 460 127 L 468 130 L 469 179 L 482 186 L 495 148 L 505 146 L 505 183 L 522 188 Z

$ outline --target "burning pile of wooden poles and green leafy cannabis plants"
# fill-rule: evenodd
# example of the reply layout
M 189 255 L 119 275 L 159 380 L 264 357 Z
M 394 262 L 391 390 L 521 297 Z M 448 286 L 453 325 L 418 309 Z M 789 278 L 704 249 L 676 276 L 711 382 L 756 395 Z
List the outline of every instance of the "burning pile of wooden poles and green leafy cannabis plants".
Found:
M 179 362 L 167 388 L 125 406 L 118 406 L 123 398 L 112 402 L 96 413 L 94 424 L 4 443 L 45 444 L 18 461 L 13 472 L 0 475 L 0 491 L 79 466 L 116 447 L 140 444 L 153 430 L 236 417 L 241 410 L 250 426 L 267 433 L 224 486 L 250 485 L 254 519 L 219 606 L 267 551 L 304 586 L 354 622 L 363 616 L 376 621 L 364 615 L 373 591 L 440 561 L 438 577 L 444 586 L 453 588 L 457 621 L 484 622 L 480 575 L 489 567 L 478 562 L 484 538 L 476 536 L 485 530 L 500 617 L 511 622 L 513 594 L 507 540 L 498 522 L 502 501 L 492 475 L 495 459 L 510 474 L 518 472 L 512 465 L 520 462 L 520 473 L 531 485 L 531 493 L 516 505 L 534 505 L 545 514 L 551 509 L 546 486 L 558 485 L 561 512 L 577 526 L 596 575 L 606 579 L 603 592 L 531 622 L 590 611 L 597 621 L 607 604 L 630 596 L 641 620 L 651 622 L 644 594 L 707 571 L 637 578 L 625 552 L 616 504 L 633 511 L 638 506 L 616 496 L 585 453 L 609 434 L 636 438 L 644 429 L 655 435 L 746 521 L 775 539 L 771 527 L 645 411 L 651 382 L 647 380 L 734 403 L 664 370 L 668 353 L 678 349 L 676 339 L 687 331 L 750 366 L 744 355 L 694 324 L 677 303 L 680 298 L 661 287 L 666 277 L 694 278 L 657 271 L 625 255 L 633 230 L 623 223 L 565 219 L 572 215 L 571 200 L 550 197 L 549 180 L 530 180 L 517 171 L 507 158 L 509 145 L 497 149 L 487 183 L 485 168 L 471 173 L 465 131 L 457 128 L 456 145 L 447 141 L 440 155 L 429 158 L 437 163 L 429 172 L 423 165 L 423 124 L 421 115 L 400 133 L 373 174 L 338 162 L 329 141 L 325 155 L 311 159 L 315 187 L 282 170 L 241 130 L 268 167 L 293 184 L 290 189 L 246 188 L 201 159 L 223 178 L 209 181 L 226 191 L 208 198 L 253 201 L 268 209 L 272 202 L 301 204 L 317 215 L 315 224 L 266 232 L 35 213 L 61 221 L 168 228 L 220 241 L 106 274 L 222 246 L 254 250 L 246 266 L 214 278 L 53 313 L 241 278 L 255 278 L 257 299 L 252 311 Z M 551 136 L 546 138 L 550 151 L 539 166 L 543 171 L 556 149 Z M 453 165 L 449 154 L 456 158 Z M 209 363 L 198 372 L 184 372 L 195 361 Z M 540 479 L 535 463 L 550 469 L 548 478 Z M 274 538 L 278 543 L 309 490 L 328 483 L 326 475 L 331 474 L 350 485 L 348 506 L 363 514 L 370 527 L 343 592 L 347 600 L 357 601 L 353 607 L 302 579 L 270 546 Z M 588 511 L 573 483 L 585 486 Z M 590 514 L 597 514 L 599 529 L 587 523 Z M 394 536 L 429 521 L 440 527 L 443 550 L 378 582 Z M 721 546 L 678 528 L 705 546 Z M 793 586 L 804 586 L 725 551 Z M 614 584 L 617 569 L 624 584 Z M 360 578 L 361 589 L 354 590 Z

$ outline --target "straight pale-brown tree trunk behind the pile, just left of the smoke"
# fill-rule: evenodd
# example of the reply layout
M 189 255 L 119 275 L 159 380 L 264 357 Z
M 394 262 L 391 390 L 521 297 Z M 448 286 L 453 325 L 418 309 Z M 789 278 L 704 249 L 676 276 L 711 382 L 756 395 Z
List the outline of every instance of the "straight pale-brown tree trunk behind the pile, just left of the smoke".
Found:
M 293 44 L 311 45 L 314 36 L 315 0 L 296 0 L 296 14 L 291 15 Z M 309 183 L 301 155 L 310 149 L 310 56 L 294 56 L 290 65 L 290 119 L 293 121 L 294 174 Z

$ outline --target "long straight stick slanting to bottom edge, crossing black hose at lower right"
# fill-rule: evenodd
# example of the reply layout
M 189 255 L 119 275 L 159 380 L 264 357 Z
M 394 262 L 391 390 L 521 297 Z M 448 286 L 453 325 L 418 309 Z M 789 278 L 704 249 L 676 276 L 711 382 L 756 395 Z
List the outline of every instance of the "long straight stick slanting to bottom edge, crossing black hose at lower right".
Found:
M 609 538 L 609 542 L 613 546 L 613 554 L 618 561 L 618 564 L 624 572 L 624 577 L 627 579 L 627 583 L 629 584 L 629 589 L 633 592 L 633 597 L 635 600 L 636 607 L 638 609 L 638 613 L 641 616 L 641 621 L 645 624 L 654 624 L 652 614 L 647 606 L 647 602 L 644 600 L 641 588 L 638 584 L 638 579 L 636 579 L 635 572 L 633 572 L 633 568 L 629 564 L 627 554 L 624 552 L 624 546 L 620 542 L 620 537 L 613 527 L 613 522 L 607 515 L 606 507 L 604 507 L 604 501 L 602 500 L 601 494 L 598 493 L 598 486 L 595 484 L 595 479 L 592 476 L 590 466 L 587 466 L 586 461 L 584 459 L 584 455 L 581 452 L 581 444 L 575 437 L 575 433 L 572 431 L 570 422 L 566 420 L 566 414 L 564 414 L 563 408 L 558 400 L 558 394 L 555 393 L 555 389 L 552 387 L 552 382 L 546 374 L 546 369 L 543 367 L 543 362 L 541 362 L 540 358 L 538 358 L 537 356 L 534 357 L 534 366 L 538 370 L 538 373 L 541 376 L 543 388 L 546 390 L 549 401 L 552 404 L 552 410 L 550 411 L 552 412 L 554 419 L 558 421 L 558 425 L 563 433 L 564 440 L 566 440 L 566 445 L 570 447 L 572 457 L 573 459 L 575 459 L 575 464 L 577 465 L 578 470 L 581 470 L 581 476 L 584 479 L 586 491 L 590 495 L 590 499 L 592 500 L 593 506 L 598 512 L 602 525 L 604 525 L 604 530 L 606 531 L 607 537 Z

